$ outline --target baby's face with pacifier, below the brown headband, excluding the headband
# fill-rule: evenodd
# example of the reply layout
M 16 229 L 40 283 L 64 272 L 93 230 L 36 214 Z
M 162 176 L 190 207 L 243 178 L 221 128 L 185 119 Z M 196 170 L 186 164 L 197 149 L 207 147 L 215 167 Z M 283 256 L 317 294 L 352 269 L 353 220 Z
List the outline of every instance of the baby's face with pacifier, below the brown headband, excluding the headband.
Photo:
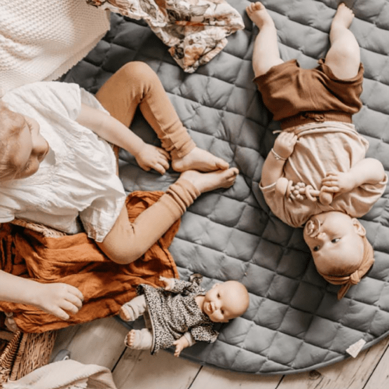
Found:
M 362 261 L 364 235 L 364 228 L 357 219 L 335 211 L 310 217 L 303 231 L 315 266 L 325 275 L 346 275 L 355 271 Z

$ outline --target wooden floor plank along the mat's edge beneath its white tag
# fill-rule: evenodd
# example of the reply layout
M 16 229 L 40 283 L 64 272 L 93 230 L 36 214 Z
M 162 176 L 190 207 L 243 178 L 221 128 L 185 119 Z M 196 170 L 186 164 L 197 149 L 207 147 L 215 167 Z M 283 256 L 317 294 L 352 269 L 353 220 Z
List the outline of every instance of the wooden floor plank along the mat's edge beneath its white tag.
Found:
M 318 371 L 285 376 L 277 389 L 362 389 L 388 344 L 389 338 L 364 350 L 357 358 L 350 357 Z

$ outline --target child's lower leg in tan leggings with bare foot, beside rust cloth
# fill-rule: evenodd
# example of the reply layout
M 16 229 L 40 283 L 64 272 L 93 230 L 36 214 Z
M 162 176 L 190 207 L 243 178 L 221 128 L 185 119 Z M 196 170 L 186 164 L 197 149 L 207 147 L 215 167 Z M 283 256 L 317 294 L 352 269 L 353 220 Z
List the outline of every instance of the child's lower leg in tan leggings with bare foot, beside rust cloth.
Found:
M 200 193 L 228 188 L 235 182 L 237 175 L 236 168 L 208 173 L 187 170 L 132 223 L 128 220 L 127 209 L 123 207 L 111 231 L 97 245 L 112 261 L 129 264 L 149 250 Z

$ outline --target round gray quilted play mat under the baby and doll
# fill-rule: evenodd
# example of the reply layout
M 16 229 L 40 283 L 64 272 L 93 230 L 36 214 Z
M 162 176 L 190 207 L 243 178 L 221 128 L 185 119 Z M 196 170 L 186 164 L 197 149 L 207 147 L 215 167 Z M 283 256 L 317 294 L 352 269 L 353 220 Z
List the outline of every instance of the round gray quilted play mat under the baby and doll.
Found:
M 316 273 L 299 229 L 269 212 L 258 188 L 261 168 L 278 123 L 261 104 L 252 83 L 252 46 L 257 35 L 245 15 L 248 1 L 230 0 L 245 29 L 228 37 L 212 61 L 186 74 L 168 48 L 142 21 L 111 15 L 111 31 L 67 74 L 95 93 L 125 62 L 147 62 L 163 81 L 184 125 L 198 146 L 240 170 L 228 190 L 200 196 L 182 217 L 170 247 L 182 278 L 240 280 L 250 292 L 242 318 L 221 328 L 212 344 L 198 343 L 182 355 L 201 364 L 253 374 L 289 374 L 317 369 L 348 357 L 346 349 L 364 339 L 372 346 L 389 331 L 389 191 L 362 219 L 376 264 L 359 285 L 337 301 L 338 287 Z M 315 67 L 329 46 L 337 1 L 264 1 L 278 29 L 282 58 Z M 369 139 L 369 156 L 389 170 L 389 2 L 356 0 L 351 26 L 362 51 L 365 79 L 357 129 Z M 142 118 L 132 129 L 157 142 Z M 166 189 L 177 173 L 144 172 L 121 151 L 121 178 L 128 191 Z

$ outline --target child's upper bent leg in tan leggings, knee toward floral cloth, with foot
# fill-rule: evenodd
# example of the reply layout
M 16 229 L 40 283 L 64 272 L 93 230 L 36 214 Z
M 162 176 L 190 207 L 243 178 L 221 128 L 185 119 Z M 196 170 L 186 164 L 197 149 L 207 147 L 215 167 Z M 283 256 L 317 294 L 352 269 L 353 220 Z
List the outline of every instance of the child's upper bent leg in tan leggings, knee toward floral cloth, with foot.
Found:
M 228 168 L 226 161 L 196 147 L 157 74 L 144 62 L 125 64 L 104 83 L 96 97 L 112 116 L 127 126 L 139 106 L 161 139 L 163 149 L 170 153 L 172 168 L 178 172 Z

